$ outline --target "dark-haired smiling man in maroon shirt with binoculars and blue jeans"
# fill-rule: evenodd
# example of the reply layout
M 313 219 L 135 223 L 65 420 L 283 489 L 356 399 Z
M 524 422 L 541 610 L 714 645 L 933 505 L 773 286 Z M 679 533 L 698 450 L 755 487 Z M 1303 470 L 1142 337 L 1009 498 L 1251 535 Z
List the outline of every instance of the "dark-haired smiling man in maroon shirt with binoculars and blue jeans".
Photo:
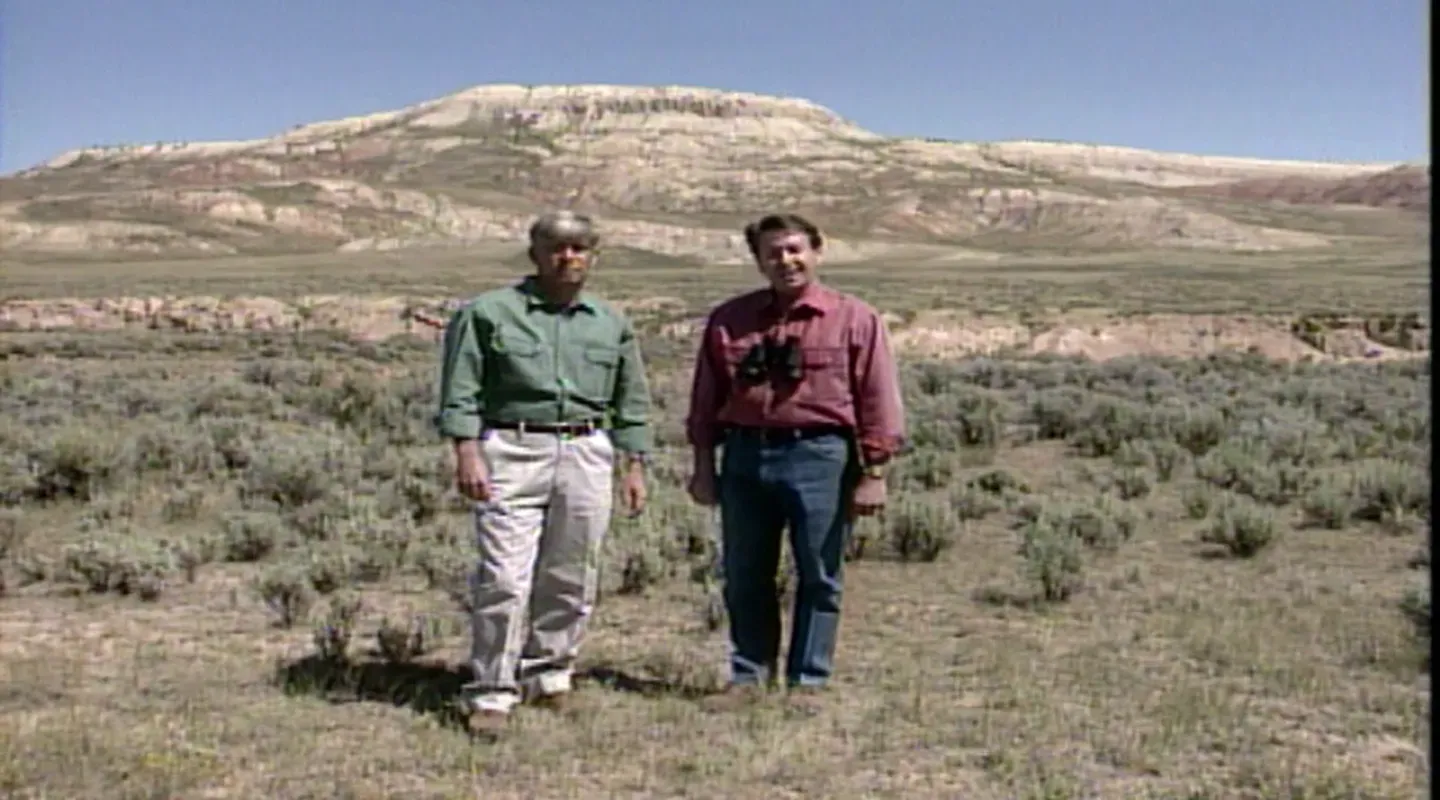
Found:
M 799 581 L 785 679 L 796 695 L 829 681 L 845 542 L 857 517 L 884 508 L 884 465 L 904 436 L 884 321 L 816 281 L 815 224 L 772 214 L 744 237 L 769 286 L 710 314 L 687 420 L 690 496 L 720 505 L 732 645 L 721 706 L 778 678 L 775 573 L 786 528 Z

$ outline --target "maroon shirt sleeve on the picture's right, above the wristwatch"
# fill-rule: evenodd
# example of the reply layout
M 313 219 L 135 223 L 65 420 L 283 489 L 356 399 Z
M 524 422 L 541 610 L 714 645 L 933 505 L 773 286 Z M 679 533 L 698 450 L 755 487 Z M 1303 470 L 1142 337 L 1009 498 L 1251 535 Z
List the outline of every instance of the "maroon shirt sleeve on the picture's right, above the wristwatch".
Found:
M 855 328 L 855 427 L 865 463 L 888 460 L 904 442 L 904 401 L 900 371 L 890 348 L 890 331 L 870 311 Z

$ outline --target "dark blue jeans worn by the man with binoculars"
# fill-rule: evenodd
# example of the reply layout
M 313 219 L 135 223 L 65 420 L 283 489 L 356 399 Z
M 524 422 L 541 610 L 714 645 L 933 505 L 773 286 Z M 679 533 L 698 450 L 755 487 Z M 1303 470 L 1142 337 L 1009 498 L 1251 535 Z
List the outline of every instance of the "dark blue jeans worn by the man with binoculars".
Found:
M 785 679 L 792 686 L 829 681 L 852 528 L 854 463 L 850 439 L 841 435 L 789 442 L 743 433 L 726 437 L 719 489 L 733 683 L 775 678 L 780 649 L 775 573 L 786 528 L 798 587 Z

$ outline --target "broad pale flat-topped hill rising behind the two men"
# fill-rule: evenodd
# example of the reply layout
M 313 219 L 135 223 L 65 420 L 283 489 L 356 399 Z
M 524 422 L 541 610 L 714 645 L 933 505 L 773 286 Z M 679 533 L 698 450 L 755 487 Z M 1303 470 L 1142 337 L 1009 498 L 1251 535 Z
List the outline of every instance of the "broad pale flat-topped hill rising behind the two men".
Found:
M 0 178 L 0 249 L 112 258 L 464 245 L 518 239 L 554 204 L 602 214 L 615 245 L 711 260 L 742 258 L 737 226 L 769 209 L 814 214 L 838 258 L 1326 247 L 1423 235 L 1428 170 L 1405 176 L 1423 183 L 1423 207 L 1354 188 L 1395 167 L 887 138 L 801 99 L 498 85 L 265 140 L 66 153 Z M 1299 197 L 1264 188 L 1296 181 Z

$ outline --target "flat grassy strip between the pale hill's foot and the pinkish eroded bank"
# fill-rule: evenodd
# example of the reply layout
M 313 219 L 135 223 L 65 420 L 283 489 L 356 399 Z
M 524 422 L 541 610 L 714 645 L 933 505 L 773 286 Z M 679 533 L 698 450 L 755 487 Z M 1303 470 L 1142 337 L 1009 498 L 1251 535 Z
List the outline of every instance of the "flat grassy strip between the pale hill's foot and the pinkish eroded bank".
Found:
M 1428 317 L 1424 246 L 1296 253 L 1043 250 L 1004 259 L 926 258 L 835 263 L 827 281 L 886 311 L 927 308 L 1045 315 L 1076 308 L 1126 314 L 1421 312 Z M 675 296 L 694 311 L 752 288 L 753 268 L 612 250 L 596 291 Z M 225 258 L 204 260 L 14 260 L 0 265 L 0 299 L 46 296 L 307 294 L 454 295 L 526 269 L 521 247 Z

